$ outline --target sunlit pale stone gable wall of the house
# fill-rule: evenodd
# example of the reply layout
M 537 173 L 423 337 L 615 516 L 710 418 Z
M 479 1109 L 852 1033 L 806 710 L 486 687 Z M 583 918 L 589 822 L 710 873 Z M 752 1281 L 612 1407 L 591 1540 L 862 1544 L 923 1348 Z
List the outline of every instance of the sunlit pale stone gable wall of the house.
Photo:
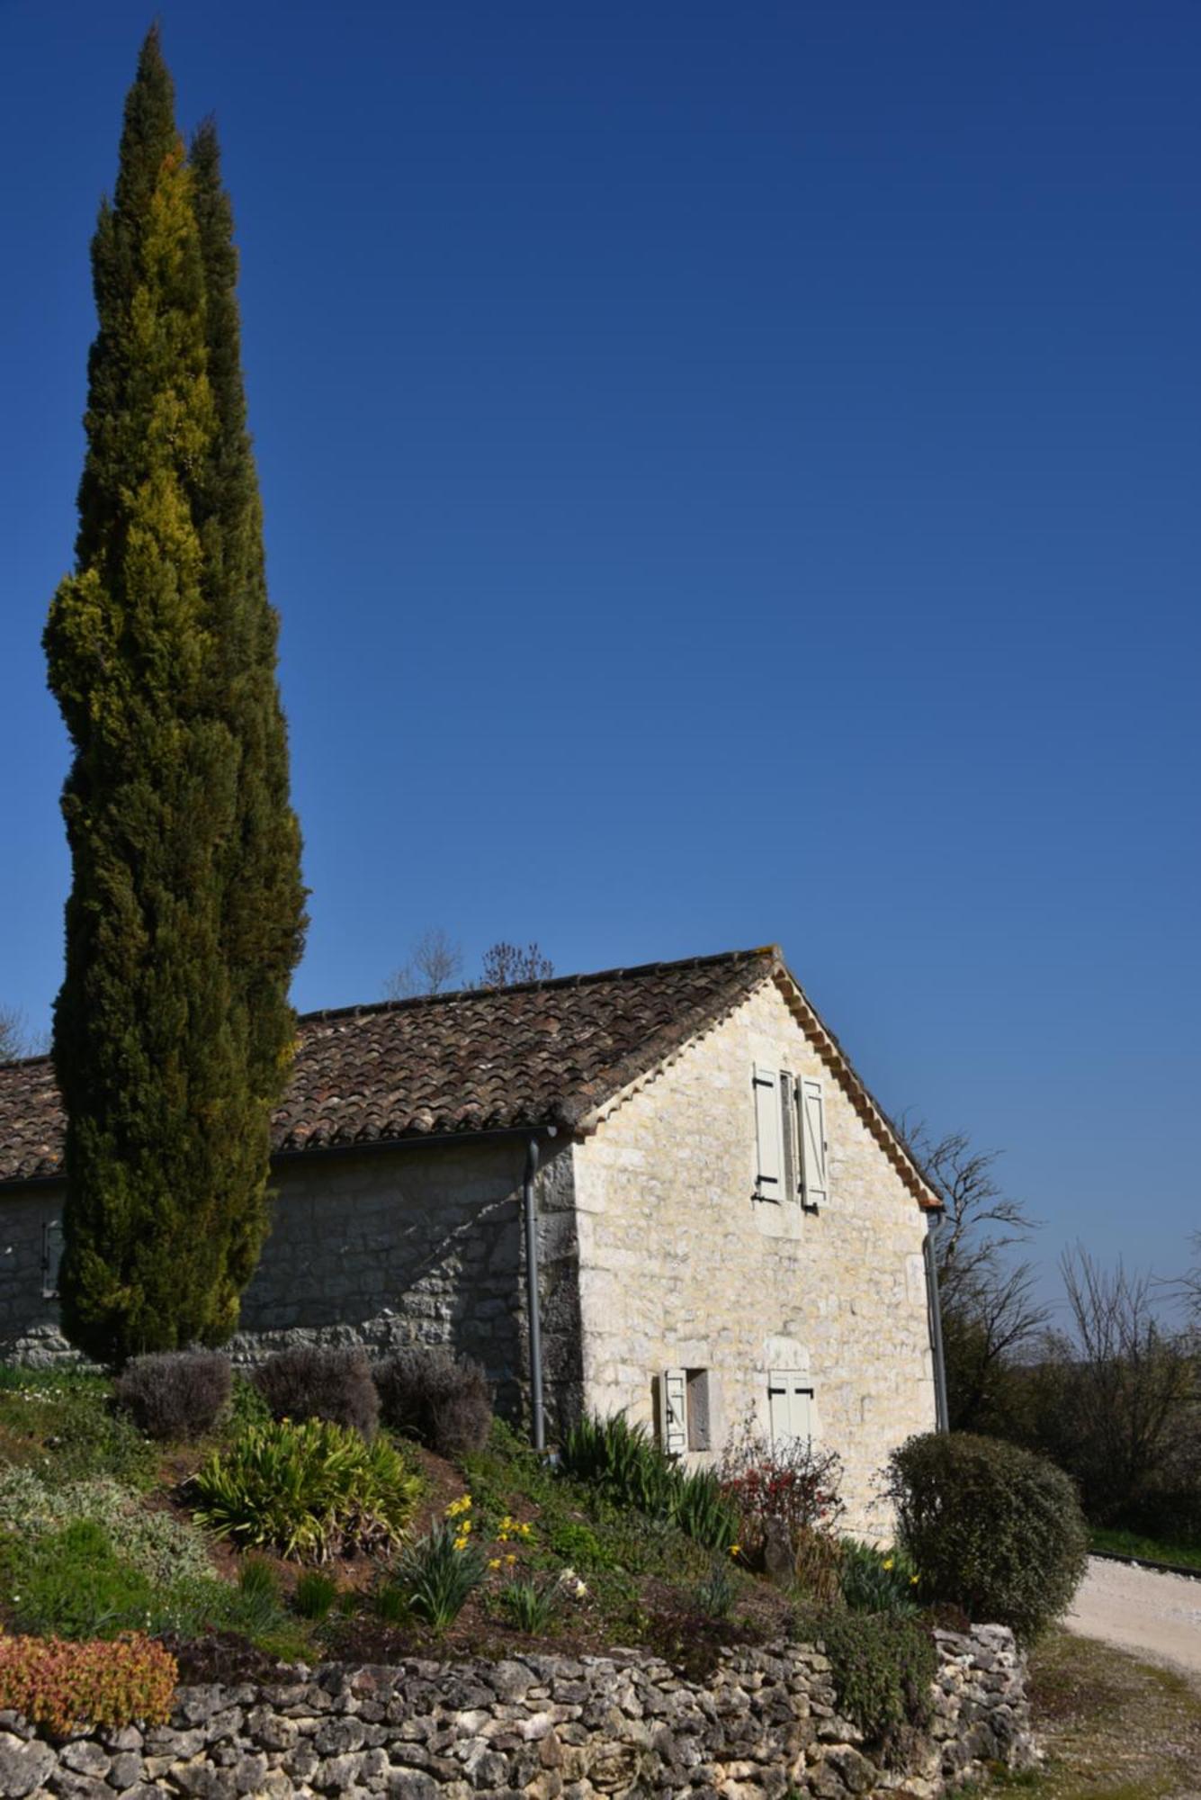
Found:
M 755 1199 L 755 1064 L 822 1078 L 829 1199 Z M 886 1534 L 877 1474 L 935 1422 L 924 1215 L 771 983 L 694 1039 L 575 1148 L 584 1390 L 653 1420 L 665 1368 L 708 1370 L 714 1442 L 768 1377 L 814 1393 L 849 1525 Z

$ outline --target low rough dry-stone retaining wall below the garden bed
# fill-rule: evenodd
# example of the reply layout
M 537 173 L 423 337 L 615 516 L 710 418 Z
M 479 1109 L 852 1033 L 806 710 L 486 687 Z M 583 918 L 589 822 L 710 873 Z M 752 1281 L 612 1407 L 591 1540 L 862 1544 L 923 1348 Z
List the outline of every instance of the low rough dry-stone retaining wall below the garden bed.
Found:
M 928 1800 L 982 1762 L 1034 1762 L 1010 1633 L 940 1633 L 939 1658 L 933 1728 L 903 1768 L 885 1768 L 838 1715 L 820 1649 L 786 1643 L 725 1651 L 701 1683 L 635 1652 L 297 1669 L 270 1685 L 182 1688 L 167 1726 L 59 1748 L 0 1714 L 0 1796 Z

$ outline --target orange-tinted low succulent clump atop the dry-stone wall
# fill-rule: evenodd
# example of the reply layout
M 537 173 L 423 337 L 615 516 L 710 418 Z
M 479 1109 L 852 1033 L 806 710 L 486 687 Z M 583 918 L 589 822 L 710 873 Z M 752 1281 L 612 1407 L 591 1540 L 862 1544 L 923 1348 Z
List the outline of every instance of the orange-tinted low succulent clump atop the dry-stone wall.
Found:
M 115 1643 L 0 1636 L 0 1710 L 52 1737 L 85 1726 L 165 1724 L 178 1667 L 140 1633 Z

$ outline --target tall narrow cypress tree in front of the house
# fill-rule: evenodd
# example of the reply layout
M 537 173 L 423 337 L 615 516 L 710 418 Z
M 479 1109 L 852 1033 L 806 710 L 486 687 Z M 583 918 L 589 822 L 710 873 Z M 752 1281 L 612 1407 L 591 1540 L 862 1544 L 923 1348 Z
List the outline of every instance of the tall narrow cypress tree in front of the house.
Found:
M 151 31 L 92 245 L 76 572 L 45 632 L 76 752 L 59 1282 L 67 1334 L 102 1361 L 237 1323 L 304 927 L 232 239 L 221 275 L 210 202 Z

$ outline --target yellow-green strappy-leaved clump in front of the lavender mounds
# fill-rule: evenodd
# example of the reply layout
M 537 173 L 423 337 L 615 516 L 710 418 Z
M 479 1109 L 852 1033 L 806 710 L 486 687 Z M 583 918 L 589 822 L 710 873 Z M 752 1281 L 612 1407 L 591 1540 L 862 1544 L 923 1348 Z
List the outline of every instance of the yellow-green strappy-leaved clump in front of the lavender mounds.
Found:
M 194 1517 L 218 1537 L 302 1562 L 392 1548 L 421 1481 L 385 1438 L 309 1418 L 250 1426 L 192 1478 Z

